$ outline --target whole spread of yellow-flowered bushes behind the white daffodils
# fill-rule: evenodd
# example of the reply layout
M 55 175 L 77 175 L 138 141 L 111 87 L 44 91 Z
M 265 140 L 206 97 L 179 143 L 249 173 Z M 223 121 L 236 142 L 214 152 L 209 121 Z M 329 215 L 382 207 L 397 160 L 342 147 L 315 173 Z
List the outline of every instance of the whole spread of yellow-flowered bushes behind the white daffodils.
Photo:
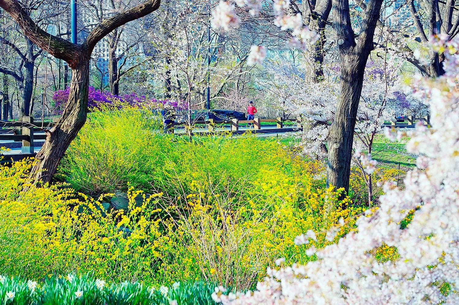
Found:
M 131 189 L 128 211 L 113 212 L 103 208 L 103 196 L 95 200 L 64 184 L 29 185 L 30 167 L 30 161 L 0 167 L 0 274 L 91 272 L 107 281 L 206 280 L 244 289 L 279 258 L 315 259 L 307 247 L 335 242 L 361 212 L 323 188 L 322 163 L 299 159 L 289 173 L 260 169 L 245 194 L 212 184 L 202 191 L 192 180 L 184 196 L 153 194 L 141 205 L 134 200 L 141 192 Z M 325 239 L 341 218 L 335 240 Z M 295 245 L 308 229 L 317 242 Z

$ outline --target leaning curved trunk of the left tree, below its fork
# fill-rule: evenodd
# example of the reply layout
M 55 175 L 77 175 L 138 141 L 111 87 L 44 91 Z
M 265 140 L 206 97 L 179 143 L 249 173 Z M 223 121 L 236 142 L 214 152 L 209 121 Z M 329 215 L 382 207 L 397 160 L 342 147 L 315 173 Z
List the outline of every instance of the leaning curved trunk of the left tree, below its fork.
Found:
M 31 170 L 34 183 L 50 182 L 67 147 L 77 136 L 86 121 L 89 86 L 89 56 L 82 55 L 72 69 L 69 103 L 62 116 L 46 137 L 46 142 L 36 156 L 37 164 Z M 70 102 L 74 101 L 74 102 Z

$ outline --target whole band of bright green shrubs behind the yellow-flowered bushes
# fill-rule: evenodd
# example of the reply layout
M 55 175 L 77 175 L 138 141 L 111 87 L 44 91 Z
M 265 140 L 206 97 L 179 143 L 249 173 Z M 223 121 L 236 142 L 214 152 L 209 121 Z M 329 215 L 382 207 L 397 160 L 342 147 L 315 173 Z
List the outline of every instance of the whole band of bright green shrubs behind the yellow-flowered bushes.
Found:
M 264 169 L 295 175 L 292 156 L 275 139 L 196 136 L 190 142 L 155 128 L 135 109 L 91 114 L 62 160 L 62 180 L 92 196 L 127 191 L 129 184 L 171 197 L 190 193 L 193 184 L 246 196 L 253 181 L 269 179 Z

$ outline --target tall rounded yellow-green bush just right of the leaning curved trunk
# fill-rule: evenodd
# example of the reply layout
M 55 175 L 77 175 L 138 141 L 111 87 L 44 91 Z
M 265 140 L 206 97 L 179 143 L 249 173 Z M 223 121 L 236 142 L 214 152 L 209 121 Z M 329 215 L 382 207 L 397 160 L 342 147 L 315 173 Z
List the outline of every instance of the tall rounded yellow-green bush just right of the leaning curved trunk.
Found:
M 127 189 L 128 181 L 145 188 L 157 167 L 146 152 L 151 150 L 153 132 L 160 128 L 161 118 L 145 109 L 89 114 L 61 162 L 61 179 L 91 195 Z

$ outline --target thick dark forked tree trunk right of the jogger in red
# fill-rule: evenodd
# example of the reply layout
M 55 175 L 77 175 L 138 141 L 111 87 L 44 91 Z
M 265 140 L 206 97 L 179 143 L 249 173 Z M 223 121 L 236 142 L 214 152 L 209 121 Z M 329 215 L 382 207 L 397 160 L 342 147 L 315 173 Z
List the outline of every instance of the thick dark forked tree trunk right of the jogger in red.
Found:
M 333 0 L 334 27 L 341 59 L 341 92 L 328 134 L 327 185 L 349 190 L 352 147 L 365 66 L 373 47 L 383 0 L 369 0 L 357 42 L 348 0 Z

